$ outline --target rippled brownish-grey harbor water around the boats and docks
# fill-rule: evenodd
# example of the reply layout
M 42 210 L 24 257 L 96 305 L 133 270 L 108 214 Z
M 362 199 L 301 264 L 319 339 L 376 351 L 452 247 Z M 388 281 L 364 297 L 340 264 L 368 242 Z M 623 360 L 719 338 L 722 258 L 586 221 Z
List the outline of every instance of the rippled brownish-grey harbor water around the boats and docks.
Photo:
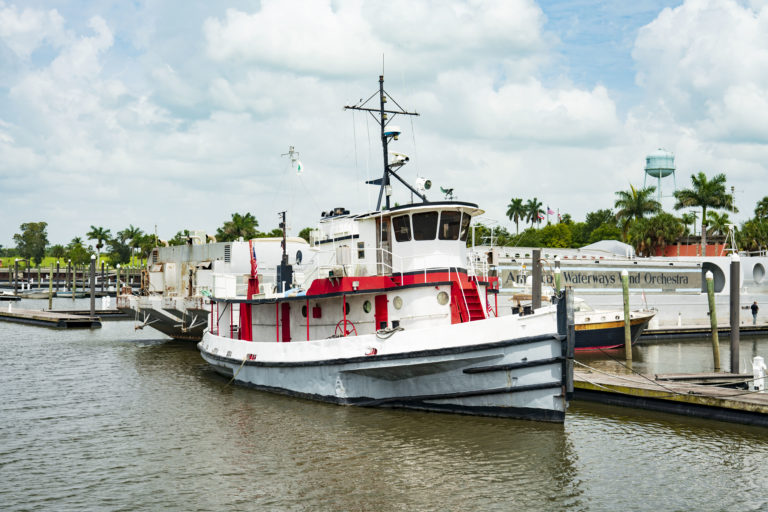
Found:
M 635 350 L 642 371 L 711 365 L 706 340 Z M 564 425 L 315 403 L 228 385 L 132 322 L 0 322 L 0 353 L 2 510 L 768 509 L 762 428 L 583 402 Z

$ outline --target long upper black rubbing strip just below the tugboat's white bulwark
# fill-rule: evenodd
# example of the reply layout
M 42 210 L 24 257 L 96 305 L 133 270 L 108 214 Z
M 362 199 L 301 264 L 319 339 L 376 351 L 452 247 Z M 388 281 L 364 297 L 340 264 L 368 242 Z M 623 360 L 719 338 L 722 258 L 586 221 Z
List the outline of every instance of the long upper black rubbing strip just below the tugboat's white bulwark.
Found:
M 417 357 L 430 357 L 430 356 L 442 356 L 450 354 L 462 354 L 465 352 L 473 352 L 475 350 L 486 350 L 500 347 L 511 347 L 514 345 L 527 345 L 530 343 L 537 343 L 540 341 L 560 341 L 560 338 L 556 334 L 542 334 L 539 336 L 527 336 L 525 338 L 516 338 L 514 340 L 496 341 L 493 343 L 482 343 L 479 345 L 462 345 L 460 347 L 446 347 L 431 350 L 419 350 L 415 352 L 400 352 L 397 354 L 383 354 L 376 356 L 360 356 L 350 357 L 345 359 L 326 359 L 322 361 L 305 361 L 305 362 L 281 362 L 281 361 L 245 361 L 241 359 L 235 359 L 232 357 L 224 357 L 211 352 L 205 351 L 205 354 L 216 361 L 221 361 L 236 365 L 245 366 L 266 366 L 266 367 L 305 367 L 305 366 L 330 366 L 341 365 L 350 363 L 362 363 L 371 361 L 395 361 L 399 359 L 414 359 Z M 300 343 L 300 342 L 297 342 Z M 202 347 L 200 347 L 202 350 Z

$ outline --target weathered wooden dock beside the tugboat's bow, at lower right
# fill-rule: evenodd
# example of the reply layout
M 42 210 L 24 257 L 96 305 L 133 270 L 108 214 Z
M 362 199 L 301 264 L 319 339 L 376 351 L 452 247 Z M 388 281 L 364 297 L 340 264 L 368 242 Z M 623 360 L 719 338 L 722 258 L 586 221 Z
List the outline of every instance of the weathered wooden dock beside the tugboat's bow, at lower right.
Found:
M 768 426 L 768 392 L 705 385 L 717 379 L 744 383 L 752 375 L 638 375 L 580 368 L 574 398 L 747 425 Z

